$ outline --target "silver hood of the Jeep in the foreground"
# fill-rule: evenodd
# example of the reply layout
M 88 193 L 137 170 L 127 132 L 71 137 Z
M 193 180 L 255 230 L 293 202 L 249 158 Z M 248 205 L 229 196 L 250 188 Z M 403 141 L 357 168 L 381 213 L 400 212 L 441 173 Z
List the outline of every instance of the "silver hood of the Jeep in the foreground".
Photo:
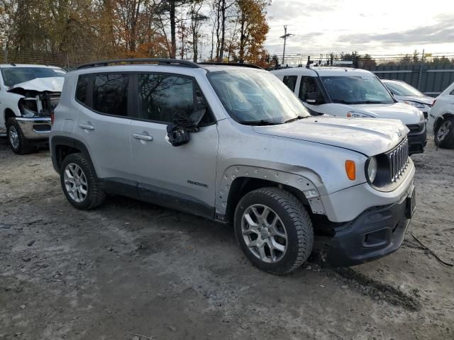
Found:
M 253 130 L 263 135 L 342 147 L 366 156 L 389 151 L 409 132 L 398 120 L 325 116 L 280 125 L 254 126 Z

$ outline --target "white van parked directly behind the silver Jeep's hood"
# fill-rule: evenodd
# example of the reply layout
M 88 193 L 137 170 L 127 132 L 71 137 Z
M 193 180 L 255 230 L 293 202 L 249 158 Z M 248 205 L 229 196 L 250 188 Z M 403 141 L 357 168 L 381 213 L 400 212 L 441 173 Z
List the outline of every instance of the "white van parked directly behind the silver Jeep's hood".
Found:
M 345 67 L 293 67 L 272 71 L 312 115 L 399 119 L 409 128 L 410 154 L 426 146 L 426 124 L 417 108 L 397 103 L 372 72 Z

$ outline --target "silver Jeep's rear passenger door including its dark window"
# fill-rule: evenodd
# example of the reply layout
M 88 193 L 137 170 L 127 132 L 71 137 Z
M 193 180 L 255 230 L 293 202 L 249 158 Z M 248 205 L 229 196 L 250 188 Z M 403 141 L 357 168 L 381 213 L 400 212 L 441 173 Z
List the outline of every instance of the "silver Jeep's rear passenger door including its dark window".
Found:
M 133 179 L 130 86 L 129 74 L 88 74 L 77 81 L 76 101 L 81 107 L 75 132 L 87 146 L 96 174 L 102 179 Z

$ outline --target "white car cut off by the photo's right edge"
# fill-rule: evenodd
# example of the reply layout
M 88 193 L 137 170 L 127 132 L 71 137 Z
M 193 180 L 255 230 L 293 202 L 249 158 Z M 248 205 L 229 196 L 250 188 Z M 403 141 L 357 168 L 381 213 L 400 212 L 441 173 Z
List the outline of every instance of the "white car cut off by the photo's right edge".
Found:
M 428 117 L 428 125 L 433 129 L 438 147 L 454 148 L 454 83 L 436 98 Z

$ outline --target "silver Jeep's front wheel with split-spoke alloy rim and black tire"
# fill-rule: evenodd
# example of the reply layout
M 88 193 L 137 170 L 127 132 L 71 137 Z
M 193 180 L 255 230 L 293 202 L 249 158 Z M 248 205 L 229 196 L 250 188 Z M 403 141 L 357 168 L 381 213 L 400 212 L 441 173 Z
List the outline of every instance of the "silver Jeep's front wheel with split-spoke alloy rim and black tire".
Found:
M 260 188 L 241 198 L 234 227 L 245 256 L 260 270 L 272 274 L 299 268 L 314 245 L 314 229 L 306 208 L 279 188 Z

